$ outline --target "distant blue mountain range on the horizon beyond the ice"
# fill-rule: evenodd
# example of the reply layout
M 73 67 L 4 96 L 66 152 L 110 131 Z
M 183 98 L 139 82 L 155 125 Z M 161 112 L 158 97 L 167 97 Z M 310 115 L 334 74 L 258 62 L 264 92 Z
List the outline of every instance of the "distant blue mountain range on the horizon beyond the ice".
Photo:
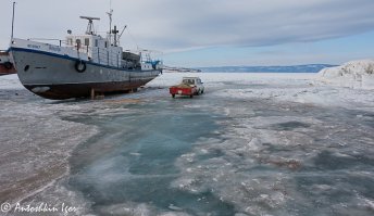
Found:
M 197 67 L 196 71 L 205 73 L 226 72 L 226 73 L 317 73 L 326 67 L 337 65 L 331 64 L 306 64 L 292 66 L 214 66 L 214 67 Z

